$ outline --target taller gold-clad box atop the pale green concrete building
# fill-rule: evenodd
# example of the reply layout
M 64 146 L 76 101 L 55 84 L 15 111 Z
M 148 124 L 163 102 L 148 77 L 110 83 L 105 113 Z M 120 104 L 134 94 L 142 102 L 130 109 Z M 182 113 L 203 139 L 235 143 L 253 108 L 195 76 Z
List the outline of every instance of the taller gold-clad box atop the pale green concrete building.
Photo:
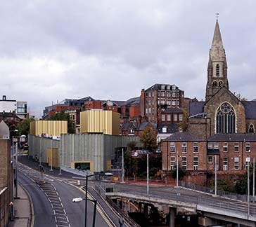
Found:
M 91 109 L 80 113 L 81 133 L 119 135 L 120 114 L 114 111 Z

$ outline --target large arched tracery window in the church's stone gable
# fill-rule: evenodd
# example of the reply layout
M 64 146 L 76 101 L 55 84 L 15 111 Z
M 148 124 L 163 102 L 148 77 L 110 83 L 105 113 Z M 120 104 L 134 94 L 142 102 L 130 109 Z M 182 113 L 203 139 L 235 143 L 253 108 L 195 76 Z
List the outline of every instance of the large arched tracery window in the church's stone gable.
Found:
M 236 114 L 233 107 L 224 102 L 217 109 L 216 115 L 216 133 L 235 133 L 236 132 Z

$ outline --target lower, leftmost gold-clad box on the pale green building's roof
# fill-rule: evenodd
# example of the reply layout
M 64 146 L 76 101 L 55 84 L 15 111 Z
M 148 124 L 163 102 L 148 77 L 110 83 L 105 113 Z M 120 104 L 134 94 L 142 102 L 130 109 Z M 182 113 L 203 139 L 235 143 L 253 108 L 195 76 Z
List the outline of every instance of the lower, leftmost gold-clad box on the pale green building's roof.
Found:
M 30 135 L 47 134 L 60 137 L 60 134 L 65 133 L 68 133 L 68 121 L 32 121 L 30 123 Z

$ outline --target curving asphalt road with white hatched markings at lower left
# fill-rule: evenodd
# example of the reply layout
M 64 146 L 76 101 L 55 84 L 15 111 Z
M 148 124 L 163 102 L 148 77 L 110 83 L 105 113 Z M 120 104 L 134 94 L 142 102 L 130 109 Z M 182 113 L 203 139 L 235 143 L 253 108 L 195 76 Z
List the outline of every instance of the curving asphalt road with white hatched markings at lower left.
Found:
M 41 174 L 25 165 L 19 165 L 18 181 L 27 189 L 34 204 L 34 226 L 84 226 L 85 202 L 72 202 L 72 198 L 84 198 L 84 192 L 68 184 L 70 180 L 45 177 L 40 183 Z M 72 183 L 72 181 L 71 181 Z M 88 201 L 87 226 L 92 226 L 94 204 Z M 113 226 L 105 218 L 101 209 L 96 212 L 96 226 Z

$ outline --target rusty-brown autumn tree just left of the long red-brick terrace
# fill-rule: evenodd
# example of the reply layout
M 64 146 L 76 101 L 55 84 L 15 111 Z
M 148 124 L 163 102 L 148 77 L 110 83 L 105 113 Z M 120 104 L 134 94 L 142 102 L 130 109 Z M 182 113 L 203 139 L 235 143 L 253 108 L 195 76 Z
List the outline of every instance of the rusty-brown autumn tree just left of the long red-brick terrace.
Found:
M 146 125 L 139 137 L 144 149 L 154 151 L 157 148 L 156 132 L 151 124 Z

